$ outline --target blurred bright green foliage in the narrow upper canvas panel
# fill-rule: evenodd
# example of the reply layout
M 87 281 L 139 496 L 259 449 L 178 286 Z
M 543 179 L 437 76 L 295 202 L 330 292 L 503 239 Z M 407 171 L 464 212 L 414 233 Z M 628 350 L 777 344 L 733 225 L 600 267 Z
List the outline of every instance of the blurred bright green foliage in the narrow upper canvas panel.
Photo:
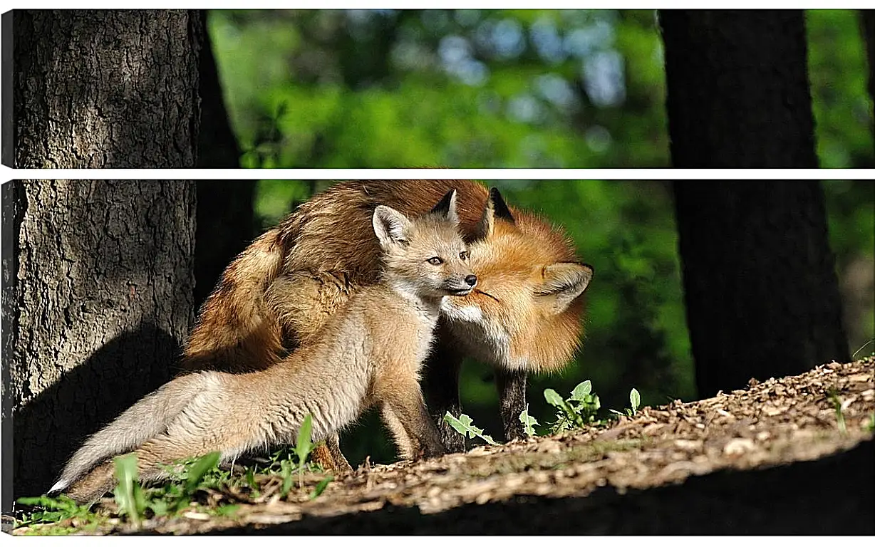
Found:
M 872 167 L 858 12 L 806 15 L 821 165 Z M 655 11 L 211 11 L 209 26 L 244 166 L 669 165 Z

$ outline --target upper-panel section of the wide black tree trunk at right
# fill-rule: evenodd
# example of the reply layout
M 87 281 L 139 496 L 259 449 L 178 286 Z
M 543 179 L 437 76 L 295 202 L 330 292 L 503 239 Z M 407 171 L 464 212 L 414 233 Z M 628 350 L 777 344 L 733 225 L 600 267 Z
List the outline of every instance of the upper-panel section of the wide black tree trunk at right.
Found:
M 675 167 L 817 167 L 802 11 L 659 17 Z

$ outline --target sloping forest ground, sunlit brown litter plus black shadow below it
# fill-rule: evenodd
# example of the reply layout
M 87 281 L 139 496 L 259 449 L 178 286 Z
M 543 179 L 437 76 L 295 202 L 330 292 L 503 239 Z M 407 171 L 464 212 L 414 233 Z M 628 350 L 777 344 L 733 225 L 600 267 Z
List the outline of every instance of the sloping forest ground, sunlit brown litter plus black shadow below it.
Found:
M 322 475 L 287 499 L 265 477 L 255 503 L 230 491 L 202 500 L 239 503 L 230 517 L 102 533 L 873 534 L 873 411 L 875 359 L 831 363 L 610 428 L 362 466 L 314 500 Z

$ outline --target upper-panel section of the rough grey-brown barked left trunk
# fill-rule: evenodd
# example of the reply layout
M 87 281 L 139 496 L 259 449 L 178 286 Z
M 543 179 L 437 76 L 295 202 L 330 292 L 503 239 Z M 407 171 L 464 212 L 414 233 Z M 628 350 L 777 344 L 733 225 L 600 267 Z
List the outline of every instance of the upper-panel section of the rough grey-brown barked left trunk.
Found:
M 193 167 L 198 11 L 13 11 L 15 167 Z

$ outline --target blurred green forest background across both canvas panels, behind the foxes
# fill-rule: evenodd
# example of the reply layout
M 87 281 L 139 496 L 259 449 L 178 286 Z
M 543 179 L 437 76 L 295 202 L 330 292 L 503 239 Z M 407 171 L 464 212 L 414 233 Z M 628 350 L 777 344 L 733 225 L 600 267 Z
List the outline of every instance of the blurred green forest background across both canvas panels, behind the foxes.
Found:
M 806 11 L 821 167 L 875 166 L 857 11 Z M 243 167 L 669 167 L 655 11 L 210 11 L 209 38 Z M 262 180 L 252 235 L 325 188 Z M 590 379 L 606 407 L 697 396 L 668 182 L 489 181 L 563 226 L 596 268 L 584 346 L 545 387 Z M 825 181 L 851 352 L 875 338 L 875 186 Z M 203 291 L 202 287 L 198 288 Z M 872 352 L 865 347 L 864 354 Z M 859 355 L 859 354 L 858 354 Z M 488 368 L 462 400 L 500 431 Z M 346 435 L 353 462 L 389 459 L 376 417 Z

